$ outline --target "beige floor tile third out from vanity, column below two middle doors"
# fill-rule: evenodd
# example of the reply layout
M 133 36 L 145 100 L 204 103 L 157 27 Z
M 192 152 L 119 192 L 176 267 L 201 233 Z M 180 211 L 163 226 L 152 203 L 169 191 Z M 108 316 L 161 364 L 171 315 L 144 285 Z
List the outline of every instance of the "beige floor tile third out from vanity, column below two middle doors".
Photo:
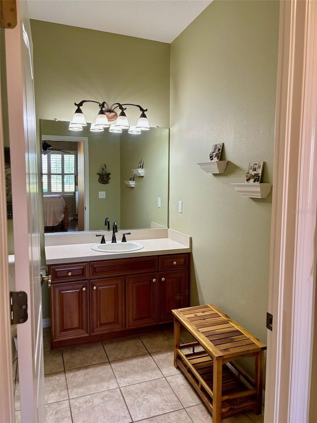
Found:
M 183 408 L 164 378 L 125 386 L 121 392 L 133 421 Z

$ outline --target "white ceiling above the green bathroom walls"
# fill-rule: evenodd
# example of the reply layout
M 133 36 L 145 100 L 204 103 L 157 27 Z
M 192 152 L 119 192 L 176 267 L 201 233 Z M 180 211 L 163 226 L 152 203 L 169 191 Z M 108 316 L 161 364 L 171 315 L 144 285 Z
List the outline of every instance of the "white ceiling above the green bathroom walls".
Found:
M 171 43 L 212 0 L 28 0 L 31 19 Z

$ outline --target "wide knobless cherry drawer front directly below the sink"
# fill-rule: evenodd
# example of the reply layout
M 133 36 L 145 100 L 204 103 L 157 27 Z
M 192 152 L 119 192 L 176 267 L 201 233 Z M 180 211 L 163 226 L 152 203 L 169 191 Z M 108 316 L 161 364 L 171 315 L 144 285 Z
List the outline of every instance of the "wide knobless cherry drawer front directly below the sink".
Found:
M 134 275 L 137 273 L 156 272 L 158 257 L 156 255 L 142 258 L 124 258 L 90 262 L 90 278 L 106 276 Z

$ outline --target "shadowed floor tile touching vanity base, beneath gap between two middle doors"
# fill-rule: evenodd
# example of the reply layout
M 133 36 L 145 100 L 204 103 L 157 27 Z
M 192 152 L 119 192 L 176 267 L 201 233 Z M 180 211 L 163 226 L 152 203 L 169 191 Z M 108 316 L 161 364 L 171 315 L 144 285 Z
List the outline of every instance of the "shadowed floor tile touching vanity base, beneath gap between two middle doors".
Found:
M 139 337 L 112 339 L 103 344 L 110 362 L 148 354 Z

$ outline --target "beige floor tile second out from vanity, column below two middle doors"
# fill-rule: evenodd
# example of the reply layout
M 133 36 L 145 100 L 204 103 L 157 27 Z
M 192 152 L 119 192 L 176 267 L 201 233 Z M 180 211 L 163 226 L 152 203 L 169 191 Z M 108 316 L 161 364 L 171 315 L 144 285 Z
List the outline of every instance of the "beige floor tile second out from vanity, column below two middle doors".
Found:
M 163 377 L 149 354 L 111 362 L 111 366 L 120 387 Z

